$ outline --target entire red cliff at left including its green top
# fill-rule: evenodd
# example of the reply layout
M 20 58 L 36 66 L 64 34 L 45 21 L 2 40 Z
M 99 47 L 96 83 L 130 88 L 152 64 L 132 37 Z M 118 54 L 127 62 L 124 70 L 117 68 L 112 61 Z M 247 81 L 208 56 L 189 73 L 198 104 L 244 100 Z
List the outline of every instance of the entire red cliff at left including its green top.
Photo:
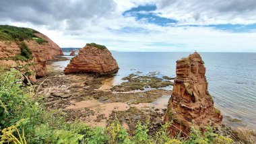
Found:
M 30 28 L 0 26 L 0 67 L 15 67 L 31 81 L 46 74 L 46 61 L 63 55 L 50 38 Z

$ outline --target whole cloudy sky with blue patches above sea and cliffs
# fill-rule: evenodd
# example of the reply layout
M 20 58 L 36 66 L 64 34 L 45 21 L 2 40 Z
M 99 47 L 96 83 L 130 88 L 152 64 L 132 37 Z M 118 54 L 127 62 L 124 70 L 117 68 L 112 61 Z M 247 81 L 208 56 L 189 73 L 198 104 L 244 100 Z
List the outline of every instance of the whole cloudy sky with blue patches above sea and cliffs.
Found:
M 34 28 L 61 47 L 256 52 L 255 0 L 0 0 L 0 24 Z

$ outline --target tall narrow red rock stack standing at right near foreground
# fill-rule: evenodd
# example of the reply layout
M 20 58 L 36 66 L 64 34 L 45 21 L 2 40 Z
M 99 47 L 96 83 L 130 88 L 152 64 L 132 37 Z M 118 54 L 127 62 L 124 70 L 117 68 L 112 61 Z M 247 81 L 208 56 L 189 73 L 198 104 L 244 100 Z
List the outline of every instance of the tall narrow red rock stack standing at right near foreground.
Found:
M 216 127 L 220 124 L 222 115 L 214 108 L 212 96 L 207 91 L 200 55 L 195 52 L 177 61 L 176 75 L 164 116 L 165 122 L 172 121 L 170 133 L 178 135 L 182 131 L 181 135 L 187 137 L 191 126 L 203 131 L 207 125 Z

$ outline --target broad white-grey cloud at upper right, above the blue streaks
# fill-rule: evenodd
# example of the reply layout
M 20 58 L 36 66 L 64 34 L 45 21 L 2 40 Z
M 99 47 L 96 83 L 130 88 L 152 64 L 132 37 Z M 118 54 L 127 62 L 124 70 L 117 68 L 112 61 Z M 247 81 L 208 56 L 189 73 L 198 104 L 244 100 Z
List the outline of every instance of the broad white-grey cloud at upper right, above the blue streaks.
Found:
M 156 13 L 181 25 L 255 24 L 255 0 L 160 0 Z

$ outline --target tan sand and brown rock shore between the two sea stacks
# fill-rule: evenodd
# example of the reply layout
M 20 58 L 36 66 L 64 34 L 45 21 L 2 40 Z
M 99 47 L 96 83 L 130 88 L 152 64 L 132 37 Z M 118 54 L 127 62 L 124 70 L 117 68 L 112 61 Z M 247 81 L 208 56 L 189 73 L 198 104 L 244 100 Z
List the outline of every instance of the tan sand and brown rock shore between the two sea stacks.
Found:
M 106 127 L 118 118 L 129 131 L 135 129 L 137 121 L 150 120 L 152 131 L 163 123 L 166 105 L 154 102 L 161 100 L 163 96 L 167 96 L 164 98 L 167 101 L 172 93 L 170 90 L 156 87 L 147 91 L 123 92 L 123 84 L 117 85 L 119 88 L 116 87 L 115 90 L 100 89 L 104 80 L 113 75 L 65 75 L 63 71 L 54 70 L 51 65 L 48 65 L 48 69 L 51 71 L 46 77 L 38 79 L 38 94 L 45 96 L 43 100 L 48 108 L 61 110 L 71 122 L 81 120 L 93 127 Z M 145 76 L 138 79 L 152 83 L 156 77 Z M 130 85 L 130 89 L 137 87 Z

